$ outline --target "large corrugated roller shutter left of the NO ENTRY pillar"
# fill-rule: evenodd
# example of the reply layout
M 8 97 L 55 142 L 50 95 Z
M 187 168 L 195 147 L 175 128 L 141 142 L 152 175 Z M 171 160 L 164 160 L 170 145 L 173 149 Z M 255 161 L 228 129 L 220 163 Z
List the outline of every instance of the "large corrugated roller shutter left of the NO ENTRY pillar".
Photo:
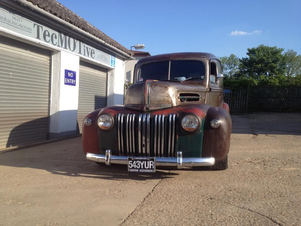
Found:
M 49 56 L 0 36 L 0 149 L 46 140 Z

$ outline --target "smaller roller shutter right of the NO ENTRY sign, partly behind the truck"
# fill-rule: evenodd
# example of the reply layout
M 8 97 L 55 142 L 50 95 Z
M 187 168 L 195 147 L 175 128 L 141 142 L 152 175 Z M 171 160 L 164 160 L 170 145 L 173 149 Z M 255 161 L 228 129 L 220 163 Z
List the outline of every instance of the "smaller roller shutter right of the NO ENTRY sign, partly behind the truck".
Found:
M 80 61 L 77 132 L 82 133 L 82 121 L 89 112 L 106 105 L 107 69 Z

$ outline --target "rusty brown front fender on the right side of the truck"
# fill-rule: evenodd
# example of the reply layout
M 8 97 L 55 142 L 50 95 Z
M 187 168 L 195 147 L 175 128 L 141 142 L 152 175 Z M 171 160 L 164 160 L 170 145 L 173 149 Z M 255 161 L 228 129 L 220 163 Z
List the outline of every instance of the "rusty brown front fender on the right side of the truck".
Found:
M 219 120 L 219 127 L 213 128 L 210 122 Z M 214 157 L 216 161 L 225 159 L 229 152 L 232 121 L 227 109 L 208 109 L 204 125 L 202 157 Z

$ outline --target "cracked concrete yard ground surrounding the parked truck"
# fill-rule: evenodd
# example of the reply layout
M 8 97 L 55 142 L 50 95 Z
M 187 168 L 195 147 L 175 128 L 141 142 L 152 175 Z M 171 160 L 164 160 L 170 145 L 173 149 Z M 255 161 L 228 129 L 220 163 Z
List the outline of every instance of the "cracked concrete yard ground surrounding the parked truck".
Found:
M 0 225 L 301 225 L 301 114 L 232 115 L 229 168 L 85 160 L 81 138 L 0 154 Z

